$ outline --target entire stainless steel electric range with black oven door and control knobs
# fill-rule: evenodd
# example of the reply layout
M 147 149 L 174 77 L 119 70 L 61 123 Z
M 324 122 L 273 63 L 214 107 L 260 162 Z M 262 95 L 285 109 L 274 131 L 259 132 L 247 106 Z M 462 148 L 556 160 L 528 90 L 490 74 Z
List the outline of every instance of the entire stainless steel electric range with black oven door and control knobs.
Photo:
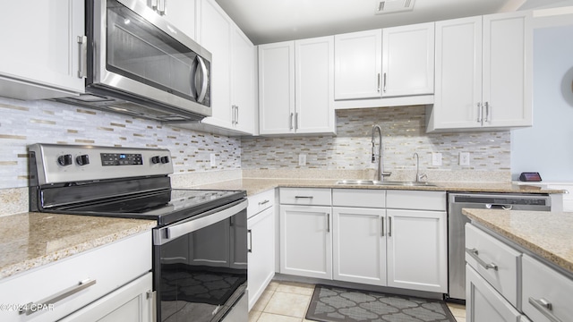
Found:
M 150 242 L 158 321 L 246 321 L 244 191 L 171 188 L 166 149 L 29 150 L 30 211 L 157 220 Z

